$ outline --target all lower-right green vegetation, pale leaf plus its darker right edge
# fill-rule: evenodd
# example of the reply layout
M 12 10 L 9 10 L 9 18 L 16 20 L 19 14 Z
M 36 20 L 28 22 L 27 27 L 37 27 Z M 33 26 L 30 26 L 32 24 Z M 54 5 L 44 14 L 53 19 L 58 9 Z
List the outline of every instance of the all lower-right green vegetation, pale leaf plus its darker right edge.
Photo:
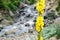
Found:
M 59 37 L 60 37 L 60 23 L 58 23 L 56 25 L 49 24 L 47 27 L 45 27 L 42 30 L 42 32 L 43 32 L 44 40 L 51 38 L 53 36 L 56 36 L 56 38 L 59 39 Z

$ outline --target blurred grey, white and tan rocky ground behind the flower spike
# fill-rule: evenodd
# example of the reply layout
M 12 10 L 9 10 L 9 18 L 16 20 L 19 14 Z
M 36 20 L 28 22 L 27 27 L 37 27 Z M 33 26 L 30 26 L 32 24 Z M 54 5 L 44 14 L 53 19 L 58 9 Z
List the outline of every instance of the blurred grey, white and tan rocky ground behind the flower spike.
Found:
M 46 3 L 46 11 L 44 14 L 45 27 L 51 23 L 57 24 L 59 22 L 57 20 L 60 20 L 55 10 L 57 4 L 56 0 L 46 0 Z M 0 12 L 0 19 L 3 20 L 0 20 L 0 40 L 37 40 L 35 22 L 38 12 L 36 11 L 35 4 L 22 5 L 24 5 L 23 8 L 15 12 L 14 20 L 9 21 L 4 19 L 1 15 L 2 11 Z M 49 40 L 56 40 L 56 38 L 52 37 Z

